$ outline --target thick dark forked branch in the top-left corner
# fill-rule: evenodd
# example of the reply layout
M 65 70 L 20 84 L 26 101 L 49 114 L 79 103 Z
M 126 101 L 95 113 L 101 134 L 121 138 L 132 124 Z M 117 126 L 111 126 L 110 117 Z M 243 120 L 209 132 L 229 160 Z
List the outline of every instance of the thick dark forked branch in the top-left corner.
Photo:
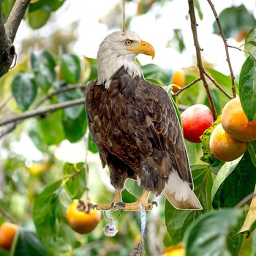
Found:
M 13 41 L 29 3 L 30 0 L 16 0 L 6 26 L 4 26 L 0 0 L 0 78 L 8 72 L 12 65 L 15 57 Z

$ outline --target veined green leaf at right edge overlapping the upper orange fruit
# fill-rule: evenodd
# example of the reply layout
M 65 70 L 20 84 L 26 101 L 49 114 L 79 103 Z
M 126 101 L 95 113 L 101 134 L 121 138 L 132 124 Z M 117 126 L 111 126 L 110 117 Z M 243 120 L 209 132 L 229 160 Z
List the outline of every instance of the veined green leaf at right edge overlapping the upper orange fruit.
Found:
M 241 68 L 239 95 L 249 121 L 256 120 L 256 60 L 249 56 Z

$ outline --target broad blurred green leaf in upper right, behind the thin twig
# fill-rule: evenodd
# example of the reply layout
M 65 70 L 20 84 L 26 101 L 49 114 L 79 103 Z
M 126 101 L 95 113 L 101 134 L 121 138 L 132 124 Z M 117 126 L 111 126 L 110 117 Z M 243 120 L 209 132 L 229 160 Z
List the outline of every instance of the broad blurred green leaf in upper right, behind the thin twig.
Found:
M 239 31 L 249 31 L 256 24 L 253 14 L 248 12 L 244 4 L 222 10 L 219 13 L 219 21 L 225 37 L 235 37 Z M 214 34 L 219 34 L 216 21 L 214 21 Z

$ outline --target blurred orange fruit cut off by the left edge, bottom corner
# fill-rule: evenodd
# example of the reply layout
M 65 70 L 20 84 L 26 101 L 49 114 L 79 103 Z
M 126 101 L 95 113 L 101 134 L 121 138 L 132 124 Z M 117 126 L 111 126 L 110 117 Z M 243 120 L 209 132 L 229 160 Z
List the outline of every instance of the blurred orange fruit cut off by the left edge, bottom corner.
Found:
M 0 246 L 10 250 L 15 233 L 18 230 L 18 225 L 11 222 L 4 222 L 0 226 Z

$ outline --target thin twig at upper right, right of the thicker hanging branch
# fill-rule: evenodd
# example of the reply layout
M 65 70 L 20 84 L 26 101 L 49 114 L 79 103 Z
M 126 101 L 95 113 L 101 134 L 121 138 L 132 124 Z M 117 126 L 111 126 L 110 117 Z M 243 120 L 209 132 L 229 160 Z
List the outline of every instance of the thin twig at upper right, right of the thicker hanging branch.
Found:
M 214 8 L 214 4 L 212 4 L 211 0 L 207 0 L 207 1 L 210 4 L 212 12 L 214 12 L 214 17 L 216 19 L 217 26 L 219 28 L 219 34 L 221 35 L 223 43 L 225 45 L 226 61 L 227 61 L 227 64 L 228 64 L 228 68 L 230 69 L 231 89 L 232 89 L 233 97 L 235 98 L 236 97 L 235 75 L 234 75 L 233 68 L 232 68 L 232 65 L 231 65 L 231 62 L 230 62 L 230 54 L 228 52 L 227 39 L 225 38 L 225 34 L 224 34 L 223 29 L 222 29 L 222 25 L 219 22 L 219 16 L 217 15 L 217 12 Z

